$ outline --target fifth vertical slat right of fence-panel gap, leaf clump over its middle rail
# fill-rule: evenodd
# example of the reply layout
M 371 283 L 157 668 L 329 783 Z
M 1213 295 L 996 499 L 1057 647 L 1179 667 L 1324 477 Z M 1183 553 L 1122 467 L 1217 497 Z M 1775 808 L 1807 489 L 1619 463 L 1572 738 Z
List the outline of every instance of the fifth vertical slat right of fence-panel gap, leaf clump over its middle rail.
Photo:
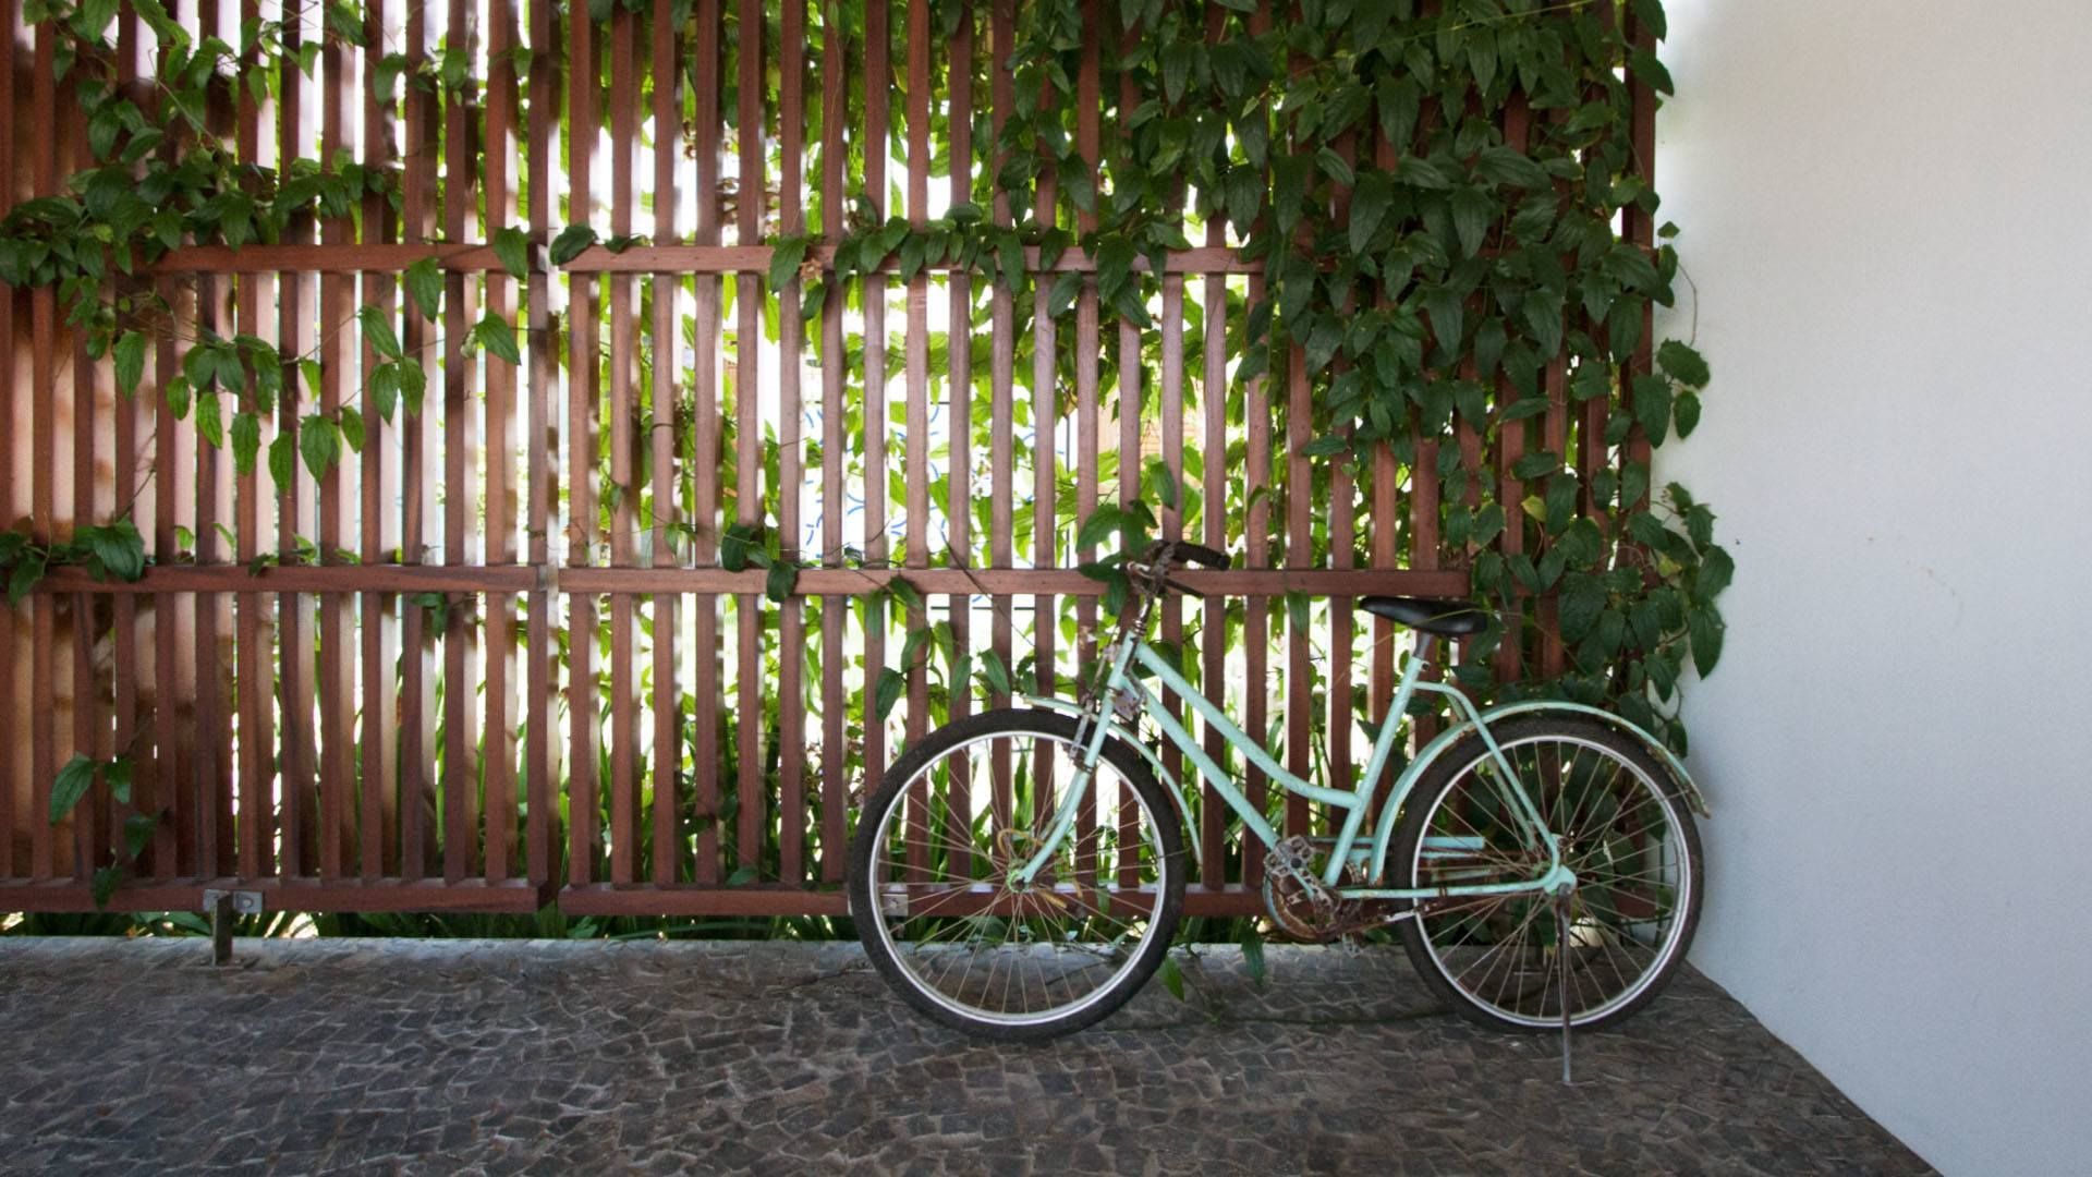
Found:
M 764 2 L 741 0 L 741 191 L 734 199 L 738 214 L 738 235 L 743 245 L 761 239 L 764 224 Z M 734 304 L 738 325 L 734 327 L 734 517 L 741 524 L 761 524 L 761 274 L 743 270 L 734 279 Z M 764 796 L 764 754 L 761 754 L 761 601 L 759 593 L 743 593 L 734 603 L 734 620 L 741 630 L 741 706 L 734 714 L 734 733 L 741 752 L 736 859 L 741 867 L 755 867 L 761 861 L 764 823 L 768 821 L 768 798 Z

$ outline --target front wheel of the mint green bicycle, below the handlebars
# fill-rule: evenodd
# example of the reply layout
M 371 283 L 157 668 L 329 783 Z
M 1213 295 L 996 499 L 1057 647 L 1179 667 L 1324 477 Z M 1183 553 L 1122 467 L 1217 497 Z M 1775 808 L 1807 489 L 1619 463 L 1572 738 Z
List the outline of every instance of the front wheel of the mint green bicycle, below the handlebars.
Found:
M 1031 880 L 1082 750 L 1077 720 L 994 710 L 946 725 L 887 771 L 849 852 L 864 951 L 923 1014 L 1000 1041 L 1079 1030 L 1161 963 L 1184 907 L 1176 808 L 1107 741 L 1073 829 Z

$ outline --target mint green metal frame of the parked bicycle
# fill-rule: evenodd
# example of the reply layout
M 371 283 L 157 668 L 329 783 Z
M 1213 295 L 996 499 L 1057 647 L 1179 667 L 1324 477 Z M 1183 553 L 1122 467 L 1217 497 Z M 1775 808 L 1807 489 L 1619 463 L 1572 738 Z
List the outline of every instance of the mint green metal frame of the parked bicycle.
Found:
M 1140 708 L 1149 714 L 1149 718 L 1155 720 L 1155 727 L 1163 733 L 1163 737 L 1169 739 L 1169 743 L 1174 743 L 1178 752 L 1182 752 L 1184 758 L 1199 769 L 1199 777 L 1203 777 L 1205 783 L 1222 800 L 1228 802 L 1228 808 L 1232 808 L 1236 817 L 1243 819 L 1243 827 L 1251 836 L 1261 840 L 1266 846 L 1278 844 L 1280 840 L 1278 831 L 1272 829 L 1272 825 L 1264 819 L 1257 806 L 1253 806 L 1249 798 L 1234 785 L 1228 773 L 1222 771 L 1222 767 L 1215 764 L 1213 758 L 1205 754 L 1205 748 L 1197 739 L 1192 739 L 1192 735 L 1184 729 L 1184 725 L 1178 723 L 1174 714 L 1169 714 L 1169 708 L 1165 708 L 1161 702 L 1161 693 L 1149 691 L 1146 687 L 1142 687 L 1138 674 L 1130 674 L 1132 666 L 1138 662 L 1138 666 L 1149 674 L 1155 674 L 1155 679 L 1159 679 L 1169 693 L 1176 693 L 1178 697 L 1188 702 L 1192 710 L 1197 710 L 1199 716 L 1205 718 L 1209 731 L 1220 731 L 1222 737 L 1232 748 L 1241 750 L 1249 762 L 1261 769 L 1282 790 L 1305 796 L 1310 800 L 1318 800 L 1343 813 L 1343 825 L 1339 827 L 1335 846 L 1328 854 L 1328 861 L 1322 867 L 1322 884 L 1328 886 L 1339 898 L 1441 898 L 1460 894 L 1513 894 L 1513 892 L 1552 894 L 1556 890 L 1573 886 L 1575 875 L 1567 867 L 1563 867 L 1559 838 L 1554 836 L 1554 831 L 1546 827 L 1546 821 L 1540 817 L 1540 810 L 1533 804 L 1531 796 L 1525 792 L 1525 785 L 1519 783 L 1517 771 L 1510 767 L 1510 760 L 1504 756 L 1502 748 L 1496 746 L 1496 737 L 1490 733 L 1490 725 L 1483 718 L 1483 714 L 1475 710 L 1475 704 L 1469 702 L 1469 697 L 1460 693 L 1458 687 L 1423 681 L 1423 668 L 1429 643 L 1431 639 L 1427 635 L 1420 635 L 1418 647 L 1404 660 L 1402 683 L 1395 687 L 1393 704 L 1387 710 L 1387 723 L 1381 725 L 1381 733 L 1372 741 L 1372 758 L 1366 764 L 1366 773 L 1360 777 L 1356 790 L 1345 792 L 1303 781 L 1301 777 L 1289 773 L 1282 764 L 1278 764 L 1278 760 L 1272 758 L 1270 752 L 1264 750 L 1264 746 L 1257 739 L 1253 739 L 1249 733 L 1236 727 L 1220 710 L 1218 704 L 1213 704 L 1211 699 L 1205 697 L 1205 693 L 1192 687 L 1176 670 L 1176 666 L 1172 666 L 1163 656 L 1155 653 L 1155 649 L 1146 641 L 1142 641 L 1132 632 L 1123 635 L 1117 643 L 1113 643 L 1107 649 L 1109 670 L 1105 676 L 1100 704 L 1094 712 L 1084 712 L 1084 723 L 1088 727 L 1077 729 L 1077 735 L 1082 737 L 1082 760 L 1077 764 L 1077 777 L 1075 781 L 1071 781 L 1067 796 L 1061 798 L 1061 804 L 1054 810 L 1054 819 L 1046 831 L 1046 838 L 1040 844 L 1040 850 L 1031 857 L 1029 863 L 1025 863 L 1017 871 L 1017 878 L 1021 882 L 1031 882 L 1031 878 L 1052 859 L 1052 854 L 1061 846 L 1061 840 L 1067 838 L 1067 834 L 1075 827 L 1075 815 L 1082 808 L 1084 796 L 1088 794 L 1092 773 L 1096 771 L 1096 760 L 1102 756 L 1105 739 L 1111 737 L 1111 725 L 1105 720 L 1105 716 L 1115 714 L 1117 704 L 1123 695 L 1132 695 L 1134 699 L 1140 702 Z M 1416 781 L 1423 777 L 1423 771 L 1435 758 L 1435 752 L 1439 752 L 1443 748 L 1443 741 L 1454 735 L 1454 733 L 1441 735 L 1439 741 L 1435 741 L 1427 750 L 1427 754 L 1418 754 L 1416 760 L 1412 760 L 1408 769 L 1404 769 L 1402 777 L 1395 779 L 1387 804 L 1381 808 L 1381 819 L 1374 825 L 1370 840 L 1360 842 L 1360 827 L 1364 825 L 1366 810 L 1372 808 L 1374 783 L 1381 779 L 1381 773 L 1387 771 L 1387 762 L 1393 756 L 1395 735 L 1402 727 L 1397 718 L 1402 714 L 1408 714 L 1410 699 L 1414 699 L 1416 693 L 1420 691 L 1446 695 L 1448 699 L 1452 699 L 1454 708 L 1466 720 L 1464 725 L 1456 725 L 1454 731 L 1464 731 L 1466 727 L 1473 727 L 1481 735 L 1483 743 L 1490 748 L 1490 756 L 1496 760 L 1504 779 L 1510 781 L 1513 785 L 1508 792 L 1510 800 L 1515 802 L 1513 819 L 1515 825 L 1519 825 L 1519 836 L 1525 840 L 1525 846 L 1529 850 L 1542 850 L 1542 848 L 1546 850 L 1546 861 L 1548 861 L 1546 871 L 1533 875 L 1531 880 L 1510 882 L 1510 884 L 1446 884 L 1433 888 L 1379 886 L 1385 880 L 1387 850 L 1389 844 L 1393 842 L 1393 827 L 1395 827 L 1393 817 L 1402 808 L 1402 802 L 1408 798 L 1410 790 L 1416 787 Z M 1427 838 L 1425 852 L 1429 854 L 1433 850 L 1446 857 L 1460 854 L 1462 850 L 1473 850 L 1473 840 Z M 1360 863 L 1370 861 L 1370 869 L 1366 871 L 1366 880 L 1370 880 L 1370 886 L 1339 886 L 1345 867 L 1351 865 L 1354 861 Z

